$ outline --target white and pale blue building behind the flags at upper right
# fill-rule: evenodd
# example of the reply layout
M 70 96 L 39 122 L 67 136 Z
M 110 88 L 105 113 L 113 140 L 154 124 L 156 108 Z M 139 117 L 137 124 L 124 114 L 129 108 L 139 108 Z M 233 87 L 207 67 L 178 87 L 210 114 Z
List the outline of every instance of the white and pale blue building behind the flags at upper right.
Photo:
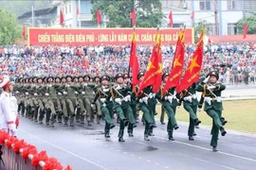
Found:
M 215 8 L 218 8 L 219 35 L 234 35 L 235 24 L 247 17 L 247 10 L 255 10 L 256 0 L 161 0 L 163 11 L 168 19 L 173 11 L 174 27 L 192 26 L 192 22 L 206 20 L 210 24 L 210 35 L 215 35 Z M 192 11 L 194 18 L 191 19 Z

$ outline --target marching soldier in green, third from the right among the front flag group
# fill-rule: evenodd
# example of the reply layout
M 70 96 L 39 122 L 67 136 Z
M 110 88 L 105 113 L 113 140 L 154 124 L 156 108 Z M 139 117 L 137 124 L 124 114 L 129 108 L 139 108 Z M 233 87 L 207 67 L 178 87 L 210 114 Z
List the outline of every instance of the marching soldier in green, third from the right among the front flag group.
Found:
M 161 102 L 164 110 L 168 115 L 167 132 L 168 139 L 174 141 L 174 129 L 177 129 L 177 123 L 175 119 L 175 110 L 178 106 L 176 96 L 174 93 L 175 88 L 170 88 L 166 92 L 163 92 L 164 85 L 168 79 L 169 74 L 164 73 L 162 75 L 163 85 L 160 87 L 160 91 L 156 94 L 157 99 Z

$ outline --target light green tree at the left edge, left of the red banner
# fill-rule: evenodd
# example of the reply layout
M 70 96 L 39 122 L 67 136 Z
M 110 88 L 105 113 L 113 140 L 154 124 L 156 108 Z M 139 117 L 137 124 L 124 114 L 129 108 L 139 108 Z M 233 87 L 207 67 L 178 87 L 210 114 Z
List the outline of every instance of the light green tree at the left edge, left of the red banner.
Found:
M 0 45 L 22 38 L 22 26 L 18 25 L 15 15 L 3 8 L 0 8 L 0 23 Z

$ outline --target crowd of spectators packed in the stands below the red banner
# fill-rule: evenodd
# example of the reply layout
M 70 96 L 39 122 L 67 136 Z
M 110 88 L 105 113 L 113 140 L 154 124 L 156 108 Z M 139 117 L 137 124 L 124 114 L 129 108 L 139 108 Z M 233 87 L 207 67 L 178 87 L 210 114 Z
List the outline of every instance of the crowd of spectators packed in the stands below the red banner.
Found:
M 139 69 L 146 70 L 152 45 L 137 45 Z M 126 73 L 129 66 L 130 45 L 86 46 L 0 46 L 0 71 L 12 76 L 93 76 Z M 185 63 L 188 64 L 195 50 L 186 44 Z M 169 72 L 173 65 L 175 45 L 162 45 L 163 70 Z M 83 66 L 83 59 L 89 69 Z M 256 82 L 256 42 L 219 43 L 204 47 L 202 73 L 216 68 L 220 80 L 226 84 Z

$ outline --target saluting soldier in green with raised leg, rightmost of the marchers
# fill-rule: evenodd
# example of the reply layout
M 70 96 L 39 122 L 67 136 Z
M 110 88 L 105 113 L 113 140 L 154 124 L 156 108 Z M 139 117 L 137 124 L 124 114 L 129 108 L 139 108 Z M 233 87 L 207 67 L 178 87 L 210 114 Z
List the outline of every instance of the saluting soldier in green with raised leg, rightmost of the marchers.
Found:
M 222 101 L 221 101 L 221 92 L 226 89 L 226 86 L 217 83 L 219 79 L 219 75 L 216 71 L 211 71 L 209 75 L 196 86 L 195 90 L 198 92 L 202 92 L 202 96 L 204 98 L 204 110 L 207 114 L 212 118 L 212 128 L 211 128 L 211 141 L 210 145 L 212 146 L 212 151 L 216 152 L 218 145 L 218 135 L 219 131 L 222 136 L 226 135 L 226 130 L 223 127 L 221 122 L 222 116 Z M 201 103 L 202 100 L 200 100 Z M 202 108 L 202 105 L 199 104 L 198 108 Z

